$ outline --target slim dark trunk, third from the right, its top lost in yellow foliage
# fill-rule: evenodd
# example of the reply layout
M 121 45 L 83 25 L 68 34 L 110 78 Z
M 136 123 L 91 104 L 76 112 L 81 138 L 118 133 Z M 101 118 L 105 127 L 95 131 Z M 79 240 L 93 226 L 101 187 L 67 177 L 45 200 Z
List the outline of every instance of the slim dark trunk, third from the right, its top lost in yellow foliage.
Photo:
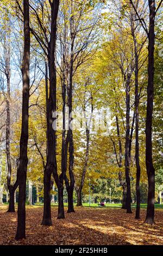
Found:
M 127 198 L 126 198 L 126 208 L 127 213 L 132 213 L 131 211 L 131 187 L 130 187 L 130 74 L 127 75 L 126 80 L 126 145 L 125 145 L 125 175 L 127 183 Z

